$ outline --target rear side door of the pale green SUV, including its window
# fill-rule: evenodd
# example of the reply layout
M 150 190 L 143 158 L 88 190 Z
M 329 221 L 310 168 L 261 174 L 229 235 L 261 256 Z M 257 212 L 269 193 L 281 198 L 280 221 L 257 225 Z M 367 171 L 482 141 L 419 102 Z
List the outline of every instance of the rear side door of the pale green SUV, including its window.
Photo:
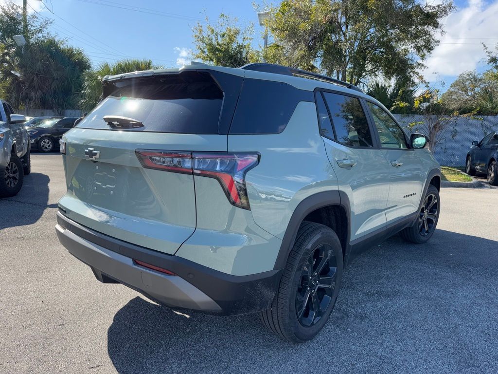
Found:
M 317 91 L 316 102 L 327 155 L 350 200 L 353 241 L 385 227 L 390 166 L 376 148 L 358 97 Z

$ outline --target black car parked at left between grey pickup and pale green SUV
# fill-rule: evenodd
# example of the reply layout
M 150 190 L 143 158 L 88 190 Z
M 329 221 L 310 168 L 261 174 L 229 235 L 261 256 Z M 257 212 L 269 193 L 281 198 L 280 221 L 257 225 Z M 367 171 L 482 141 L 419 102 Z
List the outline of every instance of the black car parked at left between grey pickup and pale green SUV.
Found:
M 40 152 L 51 152 L 59 147 L 59 140 L 64 133 L 74 127 L 74 121 L 78 117 L 50 117 L 44 121 L 29 127 L 28 133 L 31 139 L 31 149 Z

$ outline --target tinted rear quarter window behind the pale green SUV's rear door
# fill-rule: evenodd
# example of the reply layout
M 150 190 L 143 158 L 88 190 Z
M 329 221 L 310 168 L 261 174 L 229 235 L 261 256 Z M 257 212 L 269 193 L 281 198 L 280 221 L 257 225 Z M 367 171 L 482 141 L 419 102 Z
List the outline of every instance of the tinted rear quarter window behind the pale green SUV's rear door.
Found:
M 230 134 L 278 134 L 300 101 L 314 102 L 313 92 L 289 84 L 245 79 Z

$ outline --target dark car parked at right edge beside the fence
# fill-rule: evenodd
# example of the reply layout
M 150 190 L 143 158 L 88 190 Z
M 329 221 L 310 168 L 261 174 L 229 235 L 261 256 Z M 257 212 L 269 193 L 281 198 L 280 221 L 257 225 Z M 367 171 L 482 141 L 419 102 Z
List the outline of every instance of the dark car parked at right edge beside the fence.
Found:
M 482 173 L 488 175 L 490 185 L 498 186 L 498 131 L 492 132 L 480 142 L 472 142 L 472 148 L 467 154 L 465 172 L 468 175 Z

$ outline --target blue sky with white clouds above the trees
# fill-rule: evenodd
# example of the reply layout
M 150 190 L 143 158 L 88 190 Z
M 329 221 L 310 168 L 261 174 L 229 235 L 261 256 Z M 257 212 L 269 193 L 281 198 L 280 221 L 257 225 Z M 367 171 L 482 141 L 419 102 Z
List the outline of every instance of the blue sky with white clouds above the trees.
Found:
M 131 56 L 151 58 L 164 67 L 181 66 L 190 61 L 192 26 L 206 15 L 216 20 L 221 12 L 238 17 L 242 25 L 253 22 L 255 44 L 261 44 L 262 28 L 251 0 L 28 0 L 28 4 L 53 19 L 52 31 L 83 48 L 94 64 Z M 455 4 L 457 10 L 445 20 L 446 34 L 422 72 L 436 87 L 442 81 L 448 87 L 462 71 L 486 70 L 481 42 L 492 48 L 498 43 L 498 0 Z

